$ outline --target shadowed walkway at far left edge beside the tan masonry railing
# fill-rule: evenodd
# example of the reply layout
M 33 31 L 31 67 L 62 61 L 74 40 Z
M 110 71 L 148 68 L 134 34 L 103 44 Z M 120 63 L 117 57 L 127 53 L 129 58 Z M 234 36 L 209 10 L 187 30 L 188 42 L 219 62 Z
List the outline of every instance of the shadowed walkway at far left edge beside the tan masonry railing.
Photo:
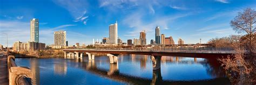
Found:
M 0 84 L 8 85 L 7 56 L 0 54 Z

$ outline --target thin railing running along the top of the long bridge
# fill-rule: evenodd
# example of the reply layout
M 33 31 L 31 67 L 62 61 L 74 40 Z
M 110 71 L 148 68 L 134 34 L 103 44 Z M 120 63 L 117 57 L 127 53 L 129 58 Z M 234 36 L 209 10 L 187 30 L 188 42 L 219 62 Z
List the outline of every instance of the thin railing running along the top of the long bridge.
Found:
M 234 53 L 233 48 L 214 47 L 161 47 L 161 48 L 80 48 L 86 50 L 106 51 L 143 51 L 143 52 L 184 52 L 184 53 Z

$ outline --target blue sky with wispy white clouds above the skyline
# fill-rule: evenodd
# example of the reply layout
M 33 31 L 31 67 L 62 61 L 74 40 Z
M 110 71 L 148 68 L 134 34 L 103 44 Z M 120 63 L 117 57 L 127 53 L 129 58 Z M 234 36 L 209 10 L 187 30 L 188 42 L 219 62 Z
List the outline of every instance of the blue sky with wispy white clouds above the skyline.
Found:
M 236 34 L 230 20 L 238 11 L 255 8 L 256 1 L 204 0 L 0 0 L 0 33 L 9 34 L 9 46 L 15 41 L 29 41 L 30 19 L 39 19 L 39 41 L 53 44 L 53 32 L 65 30 L 70 45 L 76 42 L 86 45 L 92 39 L 109 37 L 109 25 L 118 22 L 118 37 L 139 38 L 146 30 L 147 44 L 154 39 L 154 29 L 172 36 L 177 44 L 182 38 L 185 44 L 206 43 L 215 37 Z M 1 34 L 0 44 L 5 45 Z

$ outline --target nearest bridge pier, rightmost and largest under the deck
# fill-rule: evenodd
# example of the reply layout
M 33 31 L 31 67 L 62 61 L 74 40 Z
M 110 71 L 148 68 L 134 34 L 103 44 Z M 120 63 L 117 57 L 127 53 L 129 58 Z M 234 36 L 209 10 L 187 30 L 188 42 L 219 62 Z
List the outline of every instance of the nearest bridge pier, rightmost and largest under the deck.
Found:
M 161 56 L 151 56 L 153 70 L 160 69 L 161 67 Z

